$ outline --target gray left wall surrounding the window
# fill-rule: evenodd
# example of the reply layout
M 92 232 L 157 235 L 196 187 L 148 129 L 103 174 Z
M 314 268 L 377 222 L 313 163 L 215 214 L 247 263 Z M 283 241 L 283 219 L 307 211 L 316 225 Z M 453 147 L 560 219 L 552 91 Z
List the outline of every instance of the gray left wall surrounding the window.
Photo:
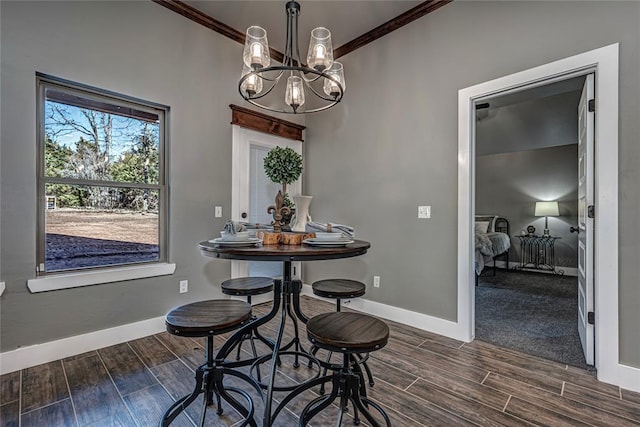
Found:
M 231 212 L 231 111 L 242 45 L 151 1 L 1 2 L 2 351 L 164 315 L 221 295 L 200 255 Z M 35 72 L 169 105 L 173 276 L 30 294 L 36 244 Z M 189 293 L 178 282 L 189 280 Z

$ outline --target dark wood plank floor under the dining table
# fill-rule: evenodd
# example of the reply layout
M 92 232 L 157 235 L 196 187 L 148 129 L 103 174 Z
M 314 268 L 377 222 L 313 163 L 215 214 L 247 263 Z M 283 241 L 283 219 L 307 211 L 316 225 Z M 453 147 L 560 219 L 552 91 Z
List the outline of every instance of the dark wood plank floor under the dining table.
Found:
M 334 310 L 333 304 L 310 297 L 302 302 L 309 316 Z M 254 312 L 268 309 L 256 306 Z M 640 426 L 640 393 L 598 382 L 593 373 L 387 323 L 389 343 L 369 360 L 376 381 L 369 396 L 384 406 L 394 426 Z M 274 330 L 272 321 L 263 332 L 273 336 Z M 306 343 L 304 326 L 301 337 Z M 203 345 L 203 340 L 160 333 L 3 375 L 0 425 L 155 427 L 164 410 L 191 391 Z M 245 344 L 243 351 L 248 349 Z M 306 366 L 294 370 L 290 365 L 283 359 L 279 380 L 310 375 Z M 281 399 L 282 393 L 275 397 Z M 296 414 L 314 397 L 315 391 L 307 391 L 290 402 L 277 425 L 297 425 Z M 208 411 L 207 425 L 241 422 L 238 413 L 223 406 L 222 416 Z M 256 406 L 261 411 L 261 403 Z M 319 414 L 313 425 L 334 425 L 333 410 Z M 200 400 L 173 425 L 192 426 L 199 413 Z M 351 421 L 346 417 L 343 425 Z

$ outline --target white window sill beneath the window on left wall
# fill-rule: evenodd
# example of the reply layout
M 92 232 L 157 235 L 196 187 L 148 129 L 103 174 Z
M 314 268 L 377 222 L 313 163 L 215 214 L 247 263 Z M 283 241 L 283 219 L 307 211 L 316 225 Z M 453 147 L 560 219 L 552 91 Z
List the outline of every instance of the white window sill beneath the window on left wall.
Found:
M 161 263 L 117 267 L 95 271 L 61 273 L 27 280 L 27 288 L 29 288 L 32 293 L 55 291 L 58 289 L 78 288 L 80 286 L 143 279 L 145 277 L 166 276 L 173 274 L 175 271 L 175 264 Z

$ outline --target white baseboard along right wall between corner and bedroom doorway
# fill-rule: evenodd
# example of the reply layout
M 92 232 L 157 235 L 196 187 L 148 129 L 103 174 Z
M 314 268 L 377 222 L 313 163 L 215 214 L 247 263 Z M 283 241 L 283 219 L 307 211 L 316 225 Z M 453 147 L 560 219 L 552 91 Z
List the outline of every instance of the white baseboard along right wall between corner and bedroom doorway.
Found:
M 335 299 L 321 298 L 315 295 L 313 293 L 311 285 L 302 285 L 302 294 L 319 300 L 335 303 Z M 450 320 L 428 316 L 426 314 L 382 304 L 365 298 L 353 298 L 351 300 L 344 300 L 342 304 L 344 304 L 345 307 L 349 307 L 353 310 L 382 317 L 384 319 L 393 320 L 394 322 L 413 326 L 414 328 L 422 329 L 424 331 L 433 332 L 434 334 L 444 335 L 462 341 L 462 337 L 457 335 L 459 328 L 456 322 L 452 322 Z

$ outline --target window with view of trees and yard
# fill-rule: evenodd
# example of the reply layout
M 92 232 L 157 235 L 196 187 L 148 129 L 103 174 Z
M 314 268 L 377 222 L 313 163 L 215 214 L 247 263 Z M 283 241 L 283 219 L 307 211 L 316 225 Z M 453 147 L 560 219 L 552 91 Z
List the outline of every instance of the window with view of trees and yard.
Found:
M 167 107 L 37 75 L 38 273 L 167 261 Z

